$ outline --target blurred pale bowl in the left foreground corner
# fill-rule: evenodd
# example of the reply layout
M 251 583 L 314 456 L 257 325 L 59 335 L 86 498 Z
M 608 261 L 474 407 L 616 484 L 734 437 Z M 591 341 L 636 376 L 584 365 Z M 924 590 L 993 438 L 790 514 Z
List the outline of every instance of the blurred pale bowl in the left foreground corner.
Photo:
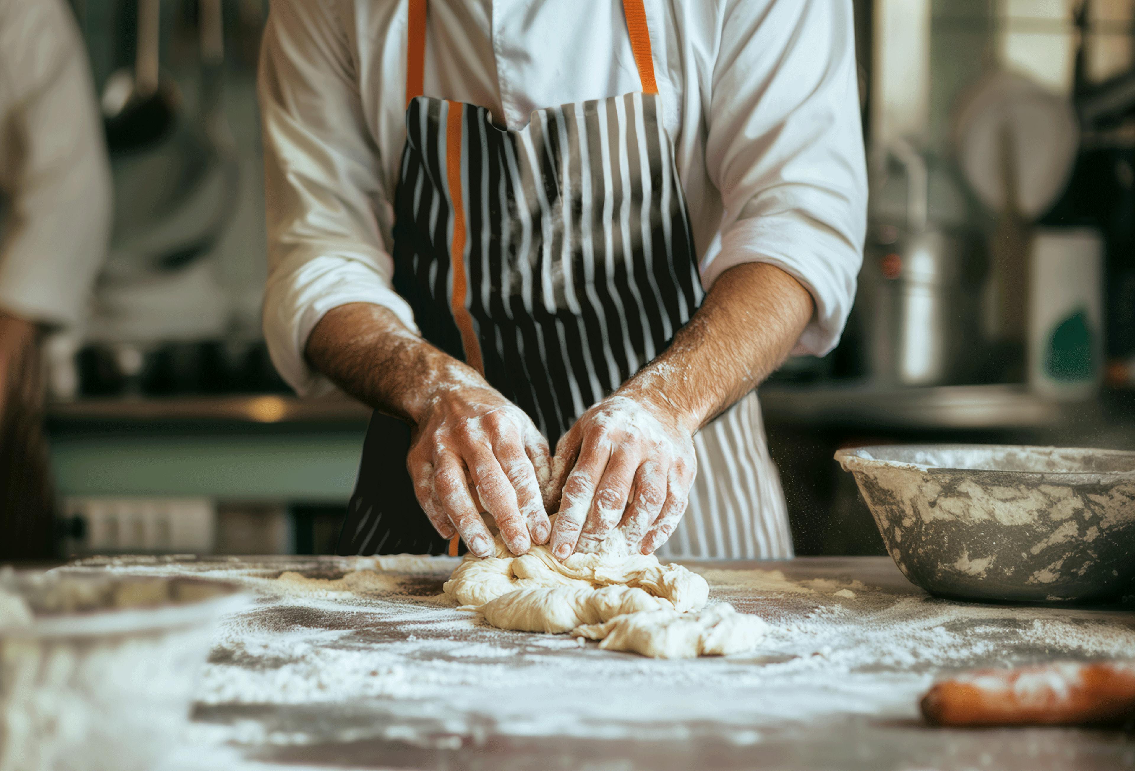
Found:
M 229 584 L 0 571 L 0 771 L 142 771 L 175 746 Z

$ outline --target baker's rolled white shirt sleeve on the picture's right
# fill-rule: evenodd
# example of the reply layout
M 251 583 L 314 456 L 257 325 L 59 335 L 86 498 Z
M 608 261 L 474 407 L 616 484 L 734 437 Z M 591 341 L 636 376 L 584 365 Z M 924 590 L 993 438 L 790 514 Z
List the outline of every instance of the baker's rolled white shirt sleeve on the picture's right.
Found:
M 851 310 L 866 230 L 850 0 L 726 6 L 706 166 L 725 214 L 703 283 L 742 263 L 776 265 L 815 300 L 793 354 L 826 354 Z

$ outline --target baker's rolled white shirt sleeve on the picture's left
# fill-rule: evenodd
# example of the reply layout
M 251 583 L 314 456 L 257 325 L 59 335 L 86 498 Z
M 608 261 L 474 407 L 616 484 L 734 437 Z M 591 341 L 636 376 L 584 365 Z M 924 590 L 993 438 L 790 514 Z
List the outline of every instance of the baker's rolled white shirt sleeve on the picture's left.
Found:
M 330 3 L 275 0 L 261 48 L 268 282 L 264 338 L 301 395 L 329 388 L 304 348 L 331 308 L 372 303 L 417 331 L 393 288 L 394 212 L 368 132 L 354 60 Z

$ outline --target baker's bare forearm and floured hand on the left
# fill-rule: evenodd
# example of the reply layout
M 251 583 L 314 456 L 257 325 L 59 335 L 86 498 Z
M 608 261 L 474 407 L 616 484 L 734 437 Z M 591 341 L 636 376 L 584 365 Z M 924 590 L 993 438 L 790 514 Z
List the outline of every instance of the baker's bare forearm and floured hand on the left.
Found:
M 359 400 L 414 426 L 406 468 L 442 537 L 461 533 L 471 552 L 493 554 L 480 516 L 488 511 L 514 553 L 547 541 L 547 440 L 474 368 L 368 303 L 328 311 L 306 355 Z

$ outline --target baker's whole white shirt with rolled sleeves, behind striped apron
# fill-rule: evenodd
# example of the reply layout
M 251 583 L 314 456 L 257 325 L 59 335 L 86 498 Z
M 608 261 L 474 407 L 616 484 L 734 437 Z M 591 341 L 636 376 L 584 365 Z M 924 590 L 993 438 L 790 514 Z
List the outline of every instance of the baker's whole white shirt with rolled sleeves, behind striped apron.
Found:
M 839 341 L 866 227 L 850 0 L 646 0 L 665 127 L 708 290 L 765 262 L 815 314 L 796 354 Z M 260 66 L 269 278 L 264 334 L 301 393 L 311 330 L 346 303 L 390 308 L 393 196 L 405 141 L 397 0 L 274 0 Z M 621 0 L 430 0 L 427 96 L 532 110 L 640 91 Z

